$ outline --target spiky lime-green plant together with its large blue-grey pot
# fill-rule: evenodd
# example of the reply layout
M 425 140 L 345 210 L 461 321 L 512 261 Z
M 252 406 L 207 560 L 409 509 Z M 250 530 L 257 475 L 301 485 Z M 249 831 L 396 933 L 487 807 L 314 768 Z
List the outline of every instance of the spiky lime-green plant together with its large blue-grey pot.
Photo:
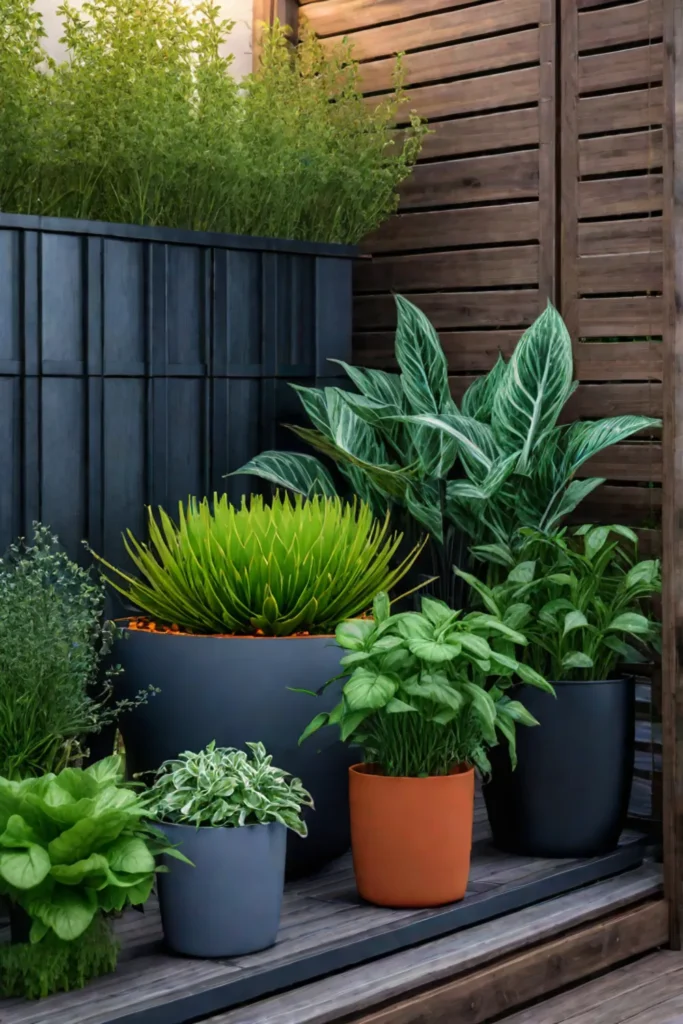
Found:
M 244 748 L 261 736 L 276 764 L 303 779 L 321 808 L 306 844 L 290 844 L 292 872 L 348 848 L 348 753 L 328 741 L 300 750 L 305 696 L 339 669 L 334 630 L 396 584 L 418 554 L 393 565 L 400 535 L 359 502 L 252 496 L 180 505 L 178 522 L 150 512 L 150 544 L 126 542 L 139 578 L 109 566 L 113 585 L 146 616 L 131 620 L 117 657 L 126 698 L 159 690 L 121 729 L 131 772 L 182 751 Z M 393 566 L 393 567 L 392 567 Z M 332 708 L 334 689 L 327 696 Z M 310 844 L 310 850 L 306 847 Z

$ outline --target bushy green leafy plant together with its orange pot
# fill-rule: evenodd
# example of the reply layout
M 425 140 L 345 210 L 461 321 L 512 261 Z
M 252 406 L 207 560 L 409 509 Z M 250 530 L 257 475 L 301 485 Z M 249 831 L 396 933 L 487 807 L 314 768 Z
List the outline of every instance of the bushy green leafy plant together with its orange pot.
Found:
M 489 771 L 499 736 L 514 760 L 515 726 L 535 719 L 505 692 L 501 672 L 550 690 L 509 653 L 524 636 L 494 612 L 463 615 L 442 601 L 390 613 L 386 594 L 374 617 L 337 629 L 350 672 L 341 700 L 321 712 L 301 739 L 339 726 L 362 751 L 349 769 L 351 848 L 358 893 L 382 906 L 436 906 L 467 888 L 474 768 Z

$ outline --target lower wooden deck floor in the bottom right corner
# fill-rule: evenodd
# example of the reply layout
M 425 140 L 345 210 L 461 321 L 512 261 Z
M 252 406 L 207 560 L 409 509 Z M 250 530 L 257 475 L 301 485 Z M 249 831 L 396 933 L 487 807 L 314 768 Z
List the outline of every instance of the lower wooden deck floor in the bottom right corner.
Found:
M 681 1024 L 683 953 L 664 951 L 620 968 L 500 1024 Z

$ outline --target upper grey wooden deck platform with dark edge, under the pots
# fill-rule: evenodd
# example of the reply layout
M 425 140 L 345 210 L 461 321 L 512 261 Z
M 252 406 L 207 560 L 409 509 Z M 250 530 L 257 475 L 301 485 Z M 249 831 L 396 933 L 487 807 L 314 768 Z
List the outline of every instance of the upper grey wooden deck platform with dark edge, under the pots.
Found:
M 485 822 L 480 809 L 477 817 L 476 830 L 481 836 Z M 470 936 L 472 926 L 481 927 L 485 921 L 490 922 L 493 937 L 503 931 L 493 919 L 633 868 L 643 855 L 642 840 L 634 833 L 625 836 L 614 854 L 583 861 L 511 857 L 479 838 L 473 847 L 465 900 L 429 910 L 391 910 L 362 903 L 353 885 L 350 857 L 341 858 L 317 877 L 288 886 L 275 946 L 229 961 L 164 954 L 158 909 L 151 904 L 144 914 L 130 911 L 119 923 L 124 953 L 115 975 L 93 982 L 82 992 L 40 1004 L 0 1000 L 0 1021 L 185 1024 L 315 978 L 357 969 L 358 964 L 419 943 L 431 944 L 464 928 Z M 620 898 L 621 887 L 633 890 L 634 881 L 639 894 L 651 890 L 652 876 L 645 869 L 644 876 L 631 871 L 615 879 L 612 888 L 605 883 L 606 892 Z M 572 892 L 566 897 L 566 912 L 574 900 L 579 907 L 585 906 L 590 894 L 590 889 Z

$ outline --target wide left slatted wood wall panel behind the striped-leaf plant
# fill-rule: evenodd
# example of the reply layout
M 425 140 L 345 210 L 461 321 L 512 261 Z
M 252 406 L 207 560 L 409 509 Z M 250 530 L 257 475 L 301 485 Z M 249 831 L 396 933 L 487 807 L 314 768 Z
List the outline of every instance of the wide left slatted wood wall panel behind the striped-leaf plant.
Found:
M 400 291 L 438 328 L 457 391 L 554 296 L 554 3 L 312 0 L 300 15 L 352 41 L 369 102 L 405 54 L 405 118 L 418 111 L 432 134 L 357 266 L 355 357 L 390 365 Z

